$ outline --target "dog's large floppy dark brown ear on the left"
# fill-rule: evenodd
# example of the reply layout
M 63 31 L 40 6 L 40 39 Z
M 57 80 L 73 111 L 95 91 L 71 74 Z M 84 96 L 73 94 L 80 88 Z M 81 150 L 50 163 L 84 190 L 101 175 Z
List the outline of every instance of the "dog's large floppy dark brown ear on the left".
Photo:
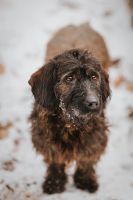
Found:
M 48 109 L 56 107 L 54 86 L 56 84 L 56 67 L 48 63 L 32 74 L 29 84 L 38 104 Z

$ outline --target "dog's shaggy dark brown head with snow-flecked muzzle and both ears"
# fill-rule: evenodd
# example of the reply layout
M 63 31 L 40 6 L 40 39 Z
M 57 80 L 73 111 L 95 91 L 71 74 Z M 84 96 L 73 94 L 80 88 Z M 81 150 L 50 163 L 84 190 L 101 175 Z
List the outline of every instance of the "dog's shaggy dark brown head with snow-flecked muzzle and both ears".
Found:
M 99 114 L 110 96 L 107 73 L 96 58 L 79 49 L 56 56 L 31 76 L 29 84 L 40 105 L 61 109 L 70 119 Z

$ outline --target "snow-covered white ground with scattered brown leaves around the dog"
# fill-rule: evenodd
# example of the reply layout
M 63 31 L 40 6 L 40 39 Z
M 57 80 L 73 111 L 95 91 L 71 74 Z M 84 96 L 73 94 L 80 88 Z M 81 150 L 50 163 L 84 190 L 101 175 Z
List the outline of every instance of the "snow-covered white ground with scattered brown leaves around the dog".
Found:
M 66 191 L 48 196 L 41 190 L 46 166 L 30 141 L 33 97 L 27 81 L 43 64 L 53 32 L 85 21 L 104 36 L 111 56 L 121 58 L 109 72 L 111 127 L 97 167 L 100 189 L 93 195 L 76 189 L 70 169 Z M 0 75 L 0 123 L 13 124 L 0 140 L 0 200 L 132 200 L 133 118 L 128 109 L 133 108 L 133 88 L 128 84 L 133 83 L 133 29 L 125 0 L 0 0 L 0 24 L 0 64 L 6 70 Z

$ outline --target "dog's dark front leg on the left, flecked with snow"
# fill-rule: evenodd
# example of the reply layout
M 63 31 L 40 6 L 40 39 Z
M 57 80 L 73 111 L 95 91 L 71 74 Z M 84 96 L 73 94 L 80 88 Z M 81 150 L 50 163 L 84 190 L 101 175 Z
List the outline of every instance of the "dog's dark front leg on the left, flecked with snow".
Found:
M 43 191 L 48 194 L 63 192 L 66 182 L 65 165 L 52 163 L 47 170 L 46 180 L 43 183 Z

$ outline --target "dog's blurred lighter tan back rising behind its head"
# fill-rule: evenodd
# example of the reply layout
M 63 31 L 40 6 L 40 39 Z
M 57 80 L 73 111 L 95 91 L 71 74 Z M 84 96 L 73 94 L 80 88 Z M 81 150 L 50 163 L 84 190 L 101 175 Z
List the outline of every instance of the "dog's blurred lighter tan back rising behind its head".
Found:
M 101 61 L 104 68 L 109 67 L 110 57 L 103 37 L 87 23 L 69 25 L 56 32 L 47 45 L 45 60 L 48 62 L 63 51 L 74 48 L 88 50 Z

